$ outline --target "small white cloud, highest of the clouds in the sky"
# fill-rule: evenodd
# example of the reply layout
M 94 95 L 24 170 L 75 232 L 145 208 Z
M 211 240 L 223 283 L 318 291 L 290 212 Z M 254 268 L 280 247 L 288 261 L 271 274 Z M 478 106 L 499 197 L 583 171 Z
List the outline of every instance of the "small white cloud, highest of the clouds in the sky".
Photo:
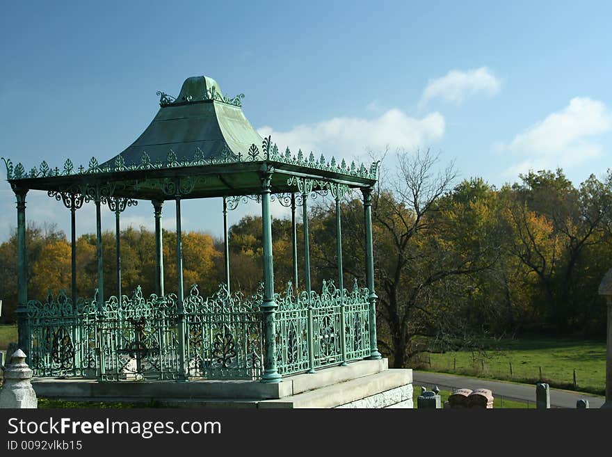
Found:
M 430 79 L 421 95 L 419 107 L 424 107 L 434 98 L 441 98 L 452 104 L 461 104 L 471 95 L 495 95 L 499 92 L 500 86 L 501 81 L 487 67 L 465 72 L 451 70 L 441 78 Z

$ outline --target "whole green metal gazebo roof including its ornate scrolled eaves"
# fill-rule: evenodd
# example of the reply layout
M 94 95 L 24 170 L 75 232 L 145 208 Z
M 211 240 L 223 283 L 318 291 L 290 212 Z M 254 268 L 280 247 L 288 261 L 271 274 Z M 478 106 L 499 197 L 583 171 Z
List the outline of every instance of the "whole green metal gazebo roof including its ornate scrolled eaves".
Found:
M 273 193 L 303 191 L 296 177 L 310 186 L 332 189 L 331 183 L 351 188 L 376 183 L 378 162 L 346 163 L 315 157 L 301 150 L 279 150 L 271 138 L 261 138 L 245 118 L 241 98 L 228 98 L 209 77 L 184 81 L 177 98 L 162 92 L 161 108 L 134 143 L 100 163 L 87 166 L 67 159 L 63 168 L 40 166 L 26 171 L 22 163 L 3 159 L 13 188 L 90 193 L 104 187 L 109 195 L 149 200 L 172 198 L 182 187 L 183 198 L 258 194 L 261 171 L 273 169 Z M 188 189 L 188 191 L 185 191 Z

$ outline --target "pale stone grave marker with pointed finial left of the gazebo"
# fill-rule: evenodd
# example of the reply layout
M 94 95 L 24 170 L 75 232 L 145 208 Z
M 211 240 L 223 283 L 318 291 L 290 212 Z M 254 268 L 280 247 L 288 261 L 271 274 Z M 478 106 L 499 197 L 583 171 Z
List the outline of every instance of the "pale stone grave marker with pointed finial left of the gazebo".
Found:
M 0 408 L 38 408 L 36 392 L 30 383 L 33 371 L 26 364 L 26 354 L 17 349 L 4 368 L 0 390 Z

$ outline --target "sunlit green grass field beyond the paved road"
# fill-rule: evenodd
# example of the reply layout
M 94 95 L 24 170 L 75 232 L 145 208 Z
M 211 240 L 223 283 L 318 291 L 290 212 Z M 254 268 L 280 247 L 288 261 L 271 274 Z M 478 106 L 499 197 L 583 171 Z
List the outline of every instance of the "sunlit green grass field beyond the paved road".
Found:
M 541 367 L 542 380 L 551 387 L 600 395 L 605 392 L 605 341 L 517 338 L 491 341 L 485 347 L 485 351 L 480 353 L 424 353 L 412 362 L 412 368 L 533 384 L 540 380 Z M 574 369 L 577 373 L 576 386 Z

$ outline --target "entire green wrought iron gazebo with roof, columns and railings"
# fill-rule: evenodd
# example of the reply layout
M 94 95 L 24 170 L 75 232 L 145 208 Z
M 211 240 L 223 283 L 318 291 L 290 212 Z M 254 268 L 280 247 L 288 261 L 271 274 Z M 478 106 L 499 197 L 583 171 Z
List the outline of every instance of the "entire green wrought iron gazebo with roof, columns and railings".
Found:
M 149 127 L 116 157 L 63 169 L 46 161 L 29 172 L 22 163 L 6 164 L 17 198 L 17 316 L 19 346 L 26 348 L 36 376 L 80 376 L 99 380 L 250 378 L 277 383 L 282 376 L 314 372 L 320 367 L 362 358 L 380 358 L 376 346 L 371 191 L 378 163 L 369 168 L 326 161 L 312 152 L 303 157 L 277 149 L 261 138 L 243 115 L 241 98 L 223 96 L 216 81 L 192 77 L 177 98 L 158 92 L 160 109 Z M 340 202 L 360 189 L 364 204 L 367 287 L 344 288 Z M 26 194 L 47 191 L 72 216 L 72 288 L 45 300 L 29 300 L 26 269 Z M 308 201 L 325 191 L 335 198 L 337 278 L 311 289 Z M 276 198 L 274 197 L 276 195 Z M 264 282 L 245 297 L 230 291 L 227 209 L 245 198 L 261 203 Z M 181 202 L 190 198 L 223 198 L 225 284 L 214 296 L 186 293 L 182 272 Z M 271 201 L 291 206 L 293 282 L 274 291 Z M 149 298 L 140 287 L 127 296 L 121 289 L 120 214 L 149 200 L 154 207 L 156 290 Z M 163 283 L 161 213 L 175 200 L 177 291 Z M 75 215 L 93 202 L 97 227 L 97 289 L 91 298 L 76 296 Z M 101 207 L 115 212 L 116 296 L 104 297 Z M 296 206 L 303 211 L 305 290 L 298 284 Z M 336 285 L 337 284 L 337 285 Z

